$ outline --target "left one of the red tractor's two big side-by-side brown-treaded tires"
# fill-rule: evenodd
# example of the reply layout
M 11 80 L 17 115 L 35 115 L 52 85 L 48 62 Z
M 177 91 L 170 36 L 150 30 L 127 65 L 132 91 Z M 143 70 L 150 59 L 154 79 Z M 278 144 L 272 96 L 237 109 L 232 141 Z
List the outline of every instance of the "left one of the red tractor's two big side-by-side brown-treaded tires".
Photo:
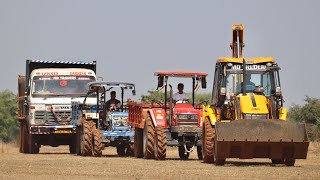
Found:
M 145 159 L 154 159 L 155 158 L 155 154 L 154 154 L 154 144 L 155 144 L 155 129 L 154 129 L 154 125 L 151 122 L 150 118 L 148 118 L 146 120 L 146 124 L 145 124 L 147 128 L 147 144 L 146 144 L 146 149 L 144 152 L 144 158 Z

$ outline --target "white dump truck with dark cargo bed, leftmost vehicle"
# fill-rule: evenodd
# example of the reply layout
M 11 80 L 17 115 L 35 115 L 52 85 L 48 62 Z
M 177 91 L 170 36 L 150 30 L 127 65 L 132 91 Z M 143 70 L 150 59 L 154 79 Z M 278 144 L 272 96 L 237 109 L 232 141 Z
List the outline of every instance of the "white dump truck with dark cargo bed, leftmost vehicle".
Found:
M 83 102 L 87 84 L 96 81 L 96 62 L 26 60 L 18 77 L 20 152 L 39 153 L 41 145 L 69 145 L 76 152 L 76 122 L 71 103 Z M 95 103 L 95 97 L 87 97 Z

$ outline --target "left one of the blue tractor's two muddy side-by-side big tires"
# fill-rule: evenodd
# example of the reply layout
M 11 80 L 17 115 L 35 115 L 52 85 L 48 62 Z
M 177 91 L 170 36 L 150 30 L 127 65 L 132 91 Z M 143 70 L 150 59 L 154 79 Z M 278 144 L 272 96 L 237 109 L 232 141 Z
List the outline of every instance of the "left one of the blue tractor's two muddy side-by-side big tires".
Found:
M 91 156 L 92 155 L 92 130 L 91 124 L 88 121 L 84 121 L 82 124 L 82 135 L 81 135 L 81 155 Z

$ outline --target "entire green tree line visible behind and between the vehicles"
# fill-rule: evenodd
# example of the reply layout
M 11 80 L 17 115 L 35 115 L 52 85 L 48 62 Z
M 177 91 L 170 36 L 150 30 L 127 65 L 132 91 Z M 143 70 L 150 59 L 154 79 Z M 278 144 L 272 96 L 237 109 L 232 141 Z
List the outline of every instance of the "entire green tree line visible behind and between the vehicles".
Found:
M 169 97 L 169 96 L 167 96 Z M 164 93 L 158 90 L 149 90 L 141 96 L 141 101 L 163 103 Z M 195 104 L 210 104 L 211 93 L 195 95 Z M 290 121 L 303 122 L 307 125 L 309 139 L 320 140 L 320 99 L 306 96 L 304 104 L 293 104 L 288 109 Z M 9 90 L 0 92 L 0 141 L 17 141 L 19 136 L 19 122 L 17 119 L 17 95 Z

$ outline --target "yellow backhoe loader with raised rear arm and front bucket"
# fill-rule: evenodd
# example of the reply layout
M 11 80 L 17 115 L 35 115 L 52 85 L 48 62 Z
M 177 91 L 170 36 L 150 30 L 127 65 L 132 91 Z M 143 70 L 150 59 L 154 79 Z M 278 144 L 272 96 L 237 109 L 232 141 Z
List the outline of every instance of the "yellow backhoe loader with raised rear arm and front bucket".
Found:
M 294 166 L 309 142 L 304 124 L 286 120 L 280 68 L 272 57 L 242 58 L 243 26 L 232 31 L 232 58 L 217 60 L 212 104 L 203 107 L 204 162 L 270 158 Z

